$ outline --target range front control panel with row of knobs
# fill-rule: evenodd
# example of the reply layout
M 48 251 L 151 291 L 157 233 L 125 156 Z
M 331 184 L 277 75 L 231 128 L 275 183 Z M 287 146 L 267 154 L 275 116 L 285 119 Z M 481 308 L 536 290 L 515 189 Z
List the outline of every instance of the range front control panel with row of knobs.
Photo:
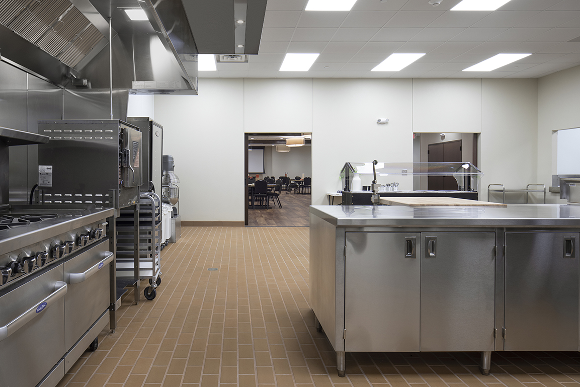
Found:
M 0 289 L 107 238 L 102 220 L 0 255 Z

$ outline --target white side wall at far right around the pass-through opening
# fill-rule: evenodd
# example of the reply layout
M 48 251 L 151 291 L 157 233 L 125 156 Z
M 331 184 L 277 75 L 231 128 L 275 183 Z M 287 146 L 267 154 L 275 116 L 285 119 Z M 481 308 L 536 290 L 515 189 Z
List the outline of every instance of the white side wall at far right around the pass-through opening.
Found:
M 556 174 L 552 131 L 580 126 L 580 66 L 542 77 L 538 82 L 538 175 L 536 182 L 552 185 Z M 559 194 L 549 193 L 549 202 L 560 202 Z

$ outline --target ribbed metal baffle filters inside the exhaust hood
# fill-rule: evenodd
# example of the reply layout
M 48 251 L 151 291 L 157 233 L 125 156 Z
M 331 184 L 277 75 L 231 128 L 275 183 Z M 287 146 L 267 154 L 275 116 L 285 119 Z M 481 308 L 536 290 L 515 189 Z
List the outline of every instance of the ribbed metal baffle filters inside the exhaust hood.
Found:
M 104 39 L 69 0 L 0 1 L 0 23 L 70 67 Z

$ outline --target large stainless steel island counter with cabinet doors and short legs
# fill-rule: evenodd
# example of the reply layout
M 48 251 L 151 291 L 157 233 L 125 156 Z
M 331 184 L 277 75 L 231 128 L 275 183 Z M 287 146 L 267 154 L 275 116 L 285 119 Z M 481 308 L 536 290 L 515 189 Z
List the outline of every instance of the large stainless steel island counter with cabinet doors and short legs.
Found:
M 578 204 L 310 207 L 310 304 L 336 351 L 580 349 Z

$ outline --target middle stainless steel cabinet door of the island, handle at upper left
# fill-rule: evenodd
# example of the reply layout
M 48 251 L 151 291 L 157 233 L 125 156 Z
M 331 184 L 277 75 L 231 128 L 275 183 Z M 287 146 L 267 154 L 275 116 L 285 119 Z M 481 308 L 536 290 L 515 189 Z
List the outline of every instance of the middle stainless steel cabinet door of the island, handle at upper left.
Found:
M 421 240 L 421 350 L 494 350 L 495 233 Z

